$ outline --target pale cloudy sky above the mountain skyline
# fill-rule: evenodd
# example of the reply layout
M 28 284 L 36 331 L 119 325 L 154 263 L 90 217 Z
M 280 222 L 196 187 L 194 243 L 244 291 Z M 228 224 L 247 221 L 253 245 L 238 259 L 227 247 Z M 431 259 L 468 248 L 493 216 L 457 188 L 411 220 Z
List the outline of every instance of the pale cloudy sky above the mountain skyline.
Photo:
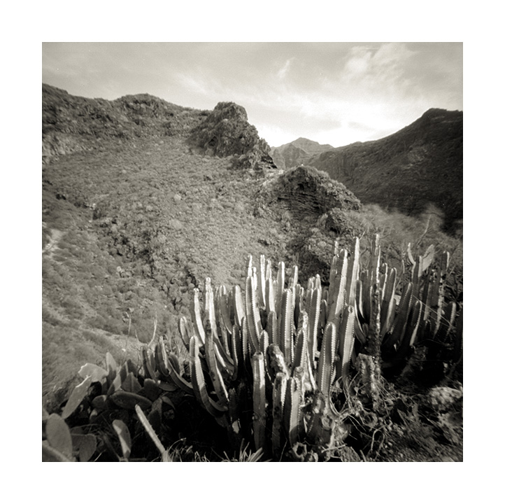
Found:
M 48 42 L 42 82 L 194 109 L 235 102 L 271 147 L 299 137 L 338 147 L 387 137 L 431 108 L 462 111 L 463 43 Z

